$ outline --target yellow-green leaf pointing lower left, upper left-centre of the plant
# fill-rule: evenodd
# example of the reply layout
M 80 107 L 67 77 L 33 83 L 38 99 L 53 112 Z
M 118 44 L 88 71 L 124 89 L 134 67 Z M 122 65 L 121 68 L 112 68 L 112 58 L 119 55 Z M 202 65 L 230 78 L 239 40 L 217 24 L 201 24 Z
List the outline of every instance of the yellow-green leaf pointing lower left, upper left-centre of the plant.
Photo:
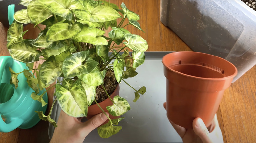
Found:
M 69 29 L 68 23 L 58 22 L 53 24 L 46 33 L 46 41 L 59 41 L 72 38 L 83 28 L 83 24 L 75 22 Z

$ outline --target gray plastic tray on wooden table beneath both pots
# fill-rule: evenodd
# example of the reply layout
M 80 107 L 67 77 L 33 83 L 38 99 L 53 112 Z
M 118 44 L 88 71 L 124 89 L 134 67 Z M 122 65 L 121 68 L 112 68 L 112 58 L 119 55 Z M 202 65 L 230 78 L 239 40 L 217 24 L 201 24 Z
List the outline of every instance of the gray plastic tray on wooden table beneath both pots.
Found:
M 145 52 L 146 60 L 136 71 L 138 75 L 126 79 L 131 86 L 147 88 L 144 95 L 134 103 L 134 90 L 124 82 L 120 83 L 120 96 L 131 106 L 119 125 L 116 135 L 107 139 L 100 138 L 97 129 L 93 130 L 84 143 L 177 143 L 181 137 L 174 130 L 166 117 L 163 103 L 166 101 L 166 78 L 163 75 L 162 57 L 171 52 Z M 55 98 L 55 97 L 54 97 Z M 61 108 L 55 103 L 51 118 L 58 120 Z M 49 137 L 52 138 L 54 127 L 49 124 Z

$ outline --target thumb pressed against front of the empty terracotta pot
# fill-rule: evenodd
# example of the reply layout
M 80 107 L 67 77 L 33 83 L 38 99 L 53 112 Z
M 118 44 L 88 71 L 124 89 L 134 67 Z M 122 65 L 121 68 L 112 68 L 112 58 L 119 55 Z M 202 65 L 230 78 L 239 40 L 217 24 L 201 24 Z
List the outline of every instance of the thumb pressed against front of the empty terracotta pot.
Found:
M 193 130 L 195 134 L 200 137 L 203 143 L 211 143 L 209 131 L 201 118 L 195 118 L 193 120 Z

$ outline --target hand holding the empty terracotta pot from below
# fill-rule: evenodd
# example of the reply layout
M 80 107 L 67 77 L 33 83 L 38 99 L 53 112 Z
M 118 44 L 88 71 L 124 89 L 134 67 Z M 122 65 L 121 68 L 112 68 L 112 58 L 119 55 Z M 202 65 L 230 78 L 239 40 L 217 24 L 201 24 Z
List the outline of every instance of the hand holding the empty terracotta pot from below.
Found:
M 166 110 L 166 102 L 163 103 Z M 223 143 L 221 129 L 215 114 L 211 125 L 206 128 L 200 118 L 193 120 L 193 129 L 185 129 L 169 120 L 173 128 L 182 138 L 183 143 Z

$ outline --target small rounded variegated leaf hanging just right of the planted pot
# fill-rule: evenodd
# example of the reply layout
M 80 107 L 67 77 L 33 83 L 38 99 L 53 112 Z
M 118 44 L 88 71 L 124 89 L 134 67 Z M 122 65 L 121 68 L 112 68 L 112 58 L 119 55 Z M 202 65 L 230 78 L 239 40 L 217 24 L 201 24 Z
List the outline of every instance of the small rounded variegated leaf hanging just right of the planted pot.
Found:
M 113 101 L 114 104 L 112 106 L 106 107 L 109 114 L 113 116 L 121 116 L 131 109 L 127 100 L 118 95 L 113 98 Z

